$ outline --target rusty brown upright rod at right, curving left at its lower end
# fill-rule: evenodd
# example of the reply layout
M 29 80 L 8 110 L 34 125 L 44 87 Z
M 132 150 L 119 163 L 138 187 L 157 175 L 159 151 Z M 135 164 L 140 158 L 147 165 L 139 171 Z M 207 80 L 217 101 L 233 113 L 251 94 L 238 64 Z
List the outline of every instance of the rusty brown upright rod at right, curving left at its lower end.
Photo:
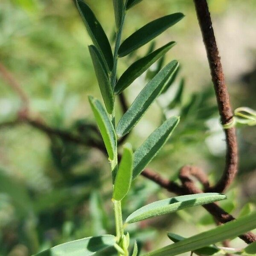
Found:
M 207 58 L 211 70 L 212 82 L 215 89 L 221 123 L 226 124 L 233 117 L 230 106 L 224 73 L 221 66 L 221 58 L 215 40 L 212 21 L 206 0 L 194 0 L 198 23 L 201 28 Z M 232 183 L 237 173 L 238 150 L 235 128 L 224 130 L 227 142 L 226 166 L 221 179 L 215 186 L 209 187 L 207 192 L 223 192 Z

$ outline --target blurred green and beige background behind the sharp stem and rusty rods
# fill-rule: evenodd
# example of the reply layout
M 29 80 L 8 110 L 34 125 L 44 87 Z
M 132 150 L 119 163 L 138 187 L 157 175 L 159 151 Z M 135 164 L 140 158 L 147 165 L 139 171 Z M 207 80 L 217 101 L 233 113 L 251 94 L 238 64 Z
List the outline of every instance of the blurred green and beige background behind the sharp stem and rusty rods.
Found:
M 108 38 L 114 35 L 111 0 L 86 1 Z M 234 108 L 256 109 L 256 1 L 209 0 L 227 86 Z M 219 124 L 209 68 L 192 0 L 144 0 L 128 13 L 123 38 L 157 17 L 183 12 L 186 17 L 156 40 L 177 45 L 165 61 L 176 58 L 180 72 L 128 137 L 135 147 L 165 116 L 181 116 L 172 139 L 150 164 L 171 180 L 185 164 L 207 171 L 214 183 L 224 168 L 225 142 Z M 35 116 L 54 129 L 86 142 L 95 133 L 87 95 L 99 97 L 87 45 L 91 44 L 72 0 L 1 0 L 0 63 L 29 98 Z M 118 74 L 148 51 L 120 61 Z M 156 66 L 125 90 L 130 104 Z M 179 89 L 182 93 L 177 95 Z M 180 90 L 181 91 L 181 90 Z M 176 96 L 176 97 L 175 97 Z M 0 255 L 28 256 L 61 242 L 114 233 L 111 174 L 105 155 L 95 148 L 49 136 L 17 119 L 22 102 L 0 76 Z M 119 106 L 117 115 L 121 113 Z M 11 125 L 6 125 L 11 122 Z M 234 215 L 256 203 L 256 133 L 238 127 L 239 175 L 220 205 Z M 93 135 L 98 139 L 97 132 Z M 122 202 L 124 217 L 167 192 L 139 178 Z M 131 239 L 142 250 L 168 242 L 166 231 L 189 236 L 214 225 L 200 207 L 131 225 Z M 236 247 L 243 243 L 236 239 Z

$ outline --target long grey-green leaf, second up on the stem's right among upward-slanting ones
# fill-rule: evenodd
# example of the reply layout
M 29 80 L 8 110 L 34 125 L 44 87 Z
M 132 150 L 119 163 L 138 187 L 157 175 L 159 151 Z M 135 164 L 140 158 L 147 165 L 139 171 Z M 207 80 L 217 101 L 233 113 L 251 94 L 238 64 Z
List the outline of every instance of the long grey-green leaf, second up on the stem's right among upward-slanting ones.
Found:
M 146 84 L 140 94 L 132 103 L 131 107 L 122 118 L 116 127 L 116 133 L 119 137 L 127 134 L 139 122 L 145 111 L 154 102 L 157 96 L 163 90 L 165 84 L 172 78 L 172 74 L 178 67 L 177 61 L 171 61 L 167 64 L 154 78 Z

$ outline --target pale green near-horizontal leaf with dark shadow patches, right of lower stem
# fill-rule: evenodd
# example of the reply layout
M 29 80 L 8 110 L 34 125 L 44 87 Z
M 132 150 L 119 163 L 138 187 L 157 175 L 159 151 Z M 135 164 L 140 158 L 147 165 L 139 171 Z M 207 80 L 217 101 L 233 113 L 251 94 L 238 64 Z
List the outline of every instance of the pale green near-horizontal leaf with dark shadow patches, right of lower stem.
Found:
M 127 223 L 134 223 L 148 218 L 176 212 L 181 209 L 226 199 L 225 195 L 218 193 L 201 193 L 195 195 L 181 195 L 147 204 L 137 209 L 126 219 Z

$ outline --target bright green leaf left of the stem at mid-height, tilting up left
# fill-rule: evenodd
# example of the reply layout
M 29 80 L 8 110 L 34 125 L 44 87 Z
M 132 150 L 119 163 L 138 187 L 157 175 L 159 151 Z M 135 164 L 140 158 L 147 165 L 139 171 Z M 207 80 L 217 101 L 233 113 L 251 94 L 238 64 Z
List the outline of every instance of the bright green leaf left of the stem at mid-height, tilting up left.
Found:
M 99 102 L 98 99 L 89 96 L 90 106 L 93 110 L 93 114 L 99 126 L 99 131 L 102 135 L 103 141 L 105 143 L 108 157 L 113 160 L 114 151 L 116 148 L 116 133 L 113 128 L 113 124 L 108 117 L 108 113 L 105 111 L 105 108 Z

